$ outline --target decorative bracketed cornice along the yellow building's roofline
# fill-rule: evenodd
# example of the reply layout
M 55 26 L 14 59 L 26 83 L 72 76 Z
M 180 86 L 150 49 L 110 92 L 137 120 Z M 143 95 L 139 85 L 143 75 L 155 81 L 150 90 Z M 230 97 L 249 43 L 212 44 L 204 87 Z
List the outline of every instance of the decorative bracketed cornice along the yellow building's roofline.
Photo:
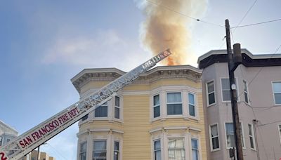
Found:
M 126 72 L 116 68 L 84 69 L 71 79 L 72 84 L 80 93 L 80 88 L 89 81 L 114 81 Z M 159 79 L 190 79 L 201 81 L 202 70 L 190 65 L 161 66 L 150 69 L 148 72 L 133 81 L 133 84 L 150 84 Z

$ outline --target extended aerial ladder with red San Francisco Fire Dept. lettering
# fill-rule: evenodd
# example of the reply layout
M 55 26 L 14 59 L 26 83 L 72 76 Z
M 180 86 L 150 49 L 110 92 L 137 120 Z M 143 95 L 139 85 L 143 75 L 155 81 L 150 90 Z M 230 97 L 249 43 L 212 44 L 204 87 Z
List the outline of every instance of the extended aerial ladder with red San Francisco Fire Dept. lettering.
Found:
M 75 102 L 73 105 L 70 105 L 70 107 L 63 109 L 63 111 L 55 114 L 46 121 L 43 121 L 41 124 L 22 133 L 22 135 L 14 138 L 0 148 L 0 160 L 20 159 L 22 156 L 32 152 L 32 150 L 39 147 L 39 145 L 50 140 L 53 136 L 79 121 L 79 119 L 89 114 L 89 112 L 93 112 L 93 110 L 100 105 L 103 105 L 103 103 L 114 97 L 117 91 L 124 88 L 124 86 L 131 84 L 143 72 L 148 71 L 148 69 L 155 66 L 157 62 L 169 55 L 171 55 L 169 49 L 160 52 L 155 57 L 144 62 L 135 69 L 132 69 L 123 76 L 120 76 L 118 79 L 115 79 L 115 81 L 100 88 L 100 90 L 95 93 Z

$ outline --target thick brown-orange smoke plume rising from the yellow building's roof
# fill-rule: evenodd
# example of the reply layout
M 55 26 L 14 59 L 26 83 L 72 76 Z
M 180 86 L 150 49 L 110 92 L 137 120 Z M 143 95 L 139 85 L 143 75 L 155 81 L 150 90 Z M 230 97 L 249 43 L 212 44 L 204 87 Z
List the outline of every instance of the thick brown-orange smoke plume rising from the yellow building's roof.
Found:
M 185 65 L 195 58 L 190 51 L 190 18 L 181 15 L 204 11 L 206 0 L 147 0 L 141 39 L 155 55 L 166 48 L 173 52 L 165 65 Z M 172 10 L 172 11 L 171 11 Z M 177 13 L 176 13 L 177 12 Z

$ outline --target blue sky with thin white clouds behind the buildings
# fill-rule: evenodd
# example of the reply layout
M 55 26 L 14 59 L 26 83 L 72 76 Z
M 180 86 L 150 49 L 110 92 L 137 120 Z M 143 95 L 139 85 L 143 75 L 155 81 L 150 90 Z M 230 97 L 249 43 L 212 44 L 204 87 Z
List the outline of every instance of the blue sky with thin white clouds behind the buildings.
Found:
M 233 27 L 253 3 L 209 1 L 200 19 L 224 25 L 228 18 Z M 138 4 L 125 0 L 1 1 L 0 119 L 21 134 L 79 100 L 70 79 L 82 69 L 129 71 L 150 58 L 139 38 L 145 16 Z M 279 0 L 258 0 L 240 25 L 281 18 L 280 8 Z M 190 22 L 191 46 L 197 56 L 226 48 L 225 29 L 216 25 Z M 254 54 L 274 53 L 281 44 L 280 27 L 281 21 L 237 28 L 233 40 Z M 76 159 L 76 133 L 74 124 L 41 150 L 56 159 Z

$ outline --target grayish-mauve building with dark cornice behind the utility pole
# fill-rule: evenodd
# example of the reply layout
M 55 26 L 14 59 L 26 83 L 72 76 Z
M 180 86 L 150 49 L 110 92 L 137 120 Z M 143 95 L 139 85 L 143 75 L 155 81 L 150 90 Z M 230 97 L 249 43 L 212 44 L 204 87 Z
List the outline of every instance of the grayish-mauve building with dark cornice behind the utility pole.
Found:
M 207 154 L 226 160 L 234 145 L 233 120 L 225 50 L 198 59 Z M 281 55 L 253 55 L 242 49 L 242 65 L 235 70 L 244 159 L 281 157 Z

